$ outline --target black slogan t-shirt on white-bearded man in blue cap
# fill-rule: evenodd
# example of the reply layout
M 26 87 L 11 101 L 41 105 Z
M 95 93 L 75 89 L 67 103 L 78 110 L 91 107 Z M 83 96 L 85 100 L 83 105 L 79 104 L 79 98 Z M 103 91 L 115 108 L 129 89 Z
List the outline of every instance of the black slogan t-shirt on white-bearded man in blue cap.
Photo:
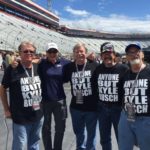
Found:
M 120 83 L 120 90 L 125 103 L 132 103 L 137 116 L 150 116 L 150 66 L 137 73 L 127 71 Z

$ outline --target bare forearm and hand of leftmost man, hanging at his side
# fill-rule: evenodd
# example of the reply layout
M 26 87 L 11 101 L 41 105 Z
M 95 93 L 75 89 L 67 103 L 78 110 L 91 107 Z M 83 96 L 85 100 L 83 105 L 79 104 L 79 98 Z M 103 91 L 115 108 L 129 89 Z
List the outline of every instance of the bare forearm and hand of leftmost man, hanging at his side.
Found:
M 3 85 L 0 86 L 0 97 L 2 100 L 2 105 L 4 108 L 4 115 L 6 118 L 11 118 L 11 113 L 9 109 L 8 99 L 7 99 L 7 91 Z

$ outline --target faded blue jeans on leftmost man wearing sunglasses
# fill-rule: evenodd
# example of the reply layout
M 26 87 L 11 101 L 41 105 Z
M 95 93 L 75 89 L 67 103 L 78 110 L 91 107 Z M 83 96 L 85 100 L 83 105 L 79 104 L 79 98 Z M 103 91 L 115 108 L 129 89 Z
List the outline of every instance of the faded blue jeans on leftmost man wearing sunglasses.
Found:
M 39 140 L 43 119 L 25 125 L 13 123 L 12 150 L 24 150 L 27 143 L 28 150 L 39 150 Z

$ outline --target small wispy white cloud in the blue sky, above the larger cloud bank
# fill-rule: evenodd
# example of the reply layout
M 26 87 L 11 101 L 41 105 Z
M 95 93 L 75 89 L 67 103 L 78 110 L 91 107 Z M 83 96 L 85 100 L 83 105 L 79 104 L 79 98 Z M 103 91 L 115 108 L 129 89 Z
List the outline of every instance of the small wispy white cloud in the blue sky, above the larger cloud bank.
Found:
M 74 15 L 74 16 L 80 16 L 80 17 L 87 17 L 88 15 L 90 15 L 90 13 L 88 13 L 86 10 L 76 10 L 71 8 L 70 6 L 66 6 L 65 11 L 69 12 L 70 14 Z

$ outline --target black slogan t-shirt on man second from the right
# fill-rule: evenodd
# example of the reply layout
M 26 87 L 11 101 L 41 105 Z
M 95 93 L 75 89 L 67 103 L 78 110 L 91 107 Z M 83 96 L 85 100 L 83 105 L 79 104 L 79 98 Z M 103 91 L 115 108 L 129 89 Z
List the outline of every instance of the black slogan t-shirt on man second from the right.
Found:
M 93 75 L 92 89 L 93 93 L 97 95 L 99 102 L 106 105 L 121 106 L 118 83 L 127 69 L 128 67 L 123 64 L 116 64 L 110 68 L 101 64 L 96 68 Z

